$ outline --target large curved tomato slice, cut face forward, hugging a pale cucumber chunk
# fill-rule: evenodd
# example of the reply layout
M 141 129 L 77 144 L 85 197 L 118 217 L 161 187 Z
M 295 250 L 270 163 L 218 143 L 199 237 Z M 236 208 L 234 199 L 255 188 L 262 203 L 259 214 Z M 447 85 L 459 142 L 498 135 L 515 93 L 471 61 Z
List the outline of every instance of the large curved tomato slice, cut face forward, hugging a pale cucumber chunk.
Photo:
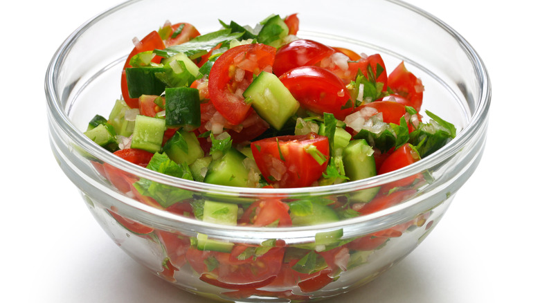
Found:
M 272 46 L 244 44 L 227 50 L 214 62 L 208 75 L 210 100 L 232 125 L 242 123 L 251 108 L 241 93 L 253 81 L 253 74 L 271 70 L 275 55 L 276 48 Z M 237 79 L 237 71 L 242 80 Z

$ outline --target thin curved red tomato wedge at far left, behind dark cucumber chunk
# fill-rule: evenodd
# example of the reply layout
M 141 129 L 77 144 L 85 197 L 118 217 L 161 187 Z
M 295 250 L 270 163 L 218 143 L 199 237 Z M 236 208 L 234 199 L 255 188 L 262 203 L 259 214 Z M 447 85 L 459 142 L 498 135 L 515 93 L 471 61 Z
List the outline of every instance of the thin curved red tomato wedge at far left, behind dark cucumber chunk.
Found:
M 122 96 L 126 102 L 126 104 L 131 107 L 132 109 L 138 108 L 138 98 L 129 98 L 129 92 L 127 91 L 127 78 L 125 75 L 125 68 L 131 67 L 129 65 L 129 60 L 132 59 L 132 57 L 138 53 L 142 53 L 149 50 L 154 49 L 163 49 L 165 48 L 165 44 L 163 44 L 163 40 L 161 40 L 161 37 L 159 37 L 159 34 L 154 30 L 150 34 L 146 35 L 140 43 L 138 43 L 132 50 L 131 53 L 127 56 L 127 59 L 125 60 L 125 64 L 122 70 L 122 77 L 120 79 L 120 86 L 122 88 Z M 152 62 L 159 63 L 161 61 L 161 57 L 155 56 L 152 59 Z

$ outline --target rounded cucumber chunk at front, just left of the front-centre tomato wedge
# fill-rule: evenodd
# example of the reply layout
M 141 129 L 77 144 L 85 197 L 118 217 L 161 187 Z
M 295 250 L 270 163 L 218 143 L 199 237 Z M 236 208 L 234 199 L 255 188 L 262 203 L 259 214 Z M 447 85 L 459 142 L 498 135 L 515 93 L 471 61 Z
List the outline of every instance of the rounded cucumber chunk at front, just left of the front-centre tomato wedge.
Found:
M 244 167 L 244 154 L 228 149 L 223 156 L 212 160 L 204 177 L 205 183 L 248 187 L 249 170 Z

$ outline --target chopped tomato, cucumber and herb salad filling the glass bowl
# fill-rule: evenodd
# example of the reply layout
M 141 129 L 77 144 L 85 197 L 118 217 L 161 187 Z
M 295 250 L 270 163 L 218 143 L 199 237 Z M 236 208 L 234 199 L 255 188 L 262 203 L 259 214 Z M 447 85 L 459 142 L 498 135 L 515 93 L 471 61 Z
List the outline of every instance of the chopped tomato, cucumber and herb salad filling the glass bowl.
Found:
M 219 21 L 201 35 L 192 24 L 165 24 L 134 39 L 120 76 L 122 98 L 86 134 L 136 165 L 192 181 L 233 187 L 311 187 L 369 178 L 429 156 L 456 128 L 422 109 L 424 86 L 405 63 L 387 69 L 366 55 L 297 36 L 296 14 L 272 15 L 255 27 Z M 218 27 L 218 26 L 217 26 Z M 417 174 L 345 199 L 201 197 L 127 174 L 98 171 L 139 201 L 210 223 L 288 227 L 377 212 L 428 183 Z M 218 201 L 214 201 L 218 200 Z M 355 239 L 333 232 L 312 244 L 258 246 L 155 230 L 107 210 L 121 226 L 158 241 L 167 279 L 189 267 L 228 297 L 274 295 L 302 300 L 361 266 L 390 238 L 422 226 L 429 213 Z M 268 291 L 280 289 L 280 291 Z M 293 289 L 299 289 L 293 294 Z

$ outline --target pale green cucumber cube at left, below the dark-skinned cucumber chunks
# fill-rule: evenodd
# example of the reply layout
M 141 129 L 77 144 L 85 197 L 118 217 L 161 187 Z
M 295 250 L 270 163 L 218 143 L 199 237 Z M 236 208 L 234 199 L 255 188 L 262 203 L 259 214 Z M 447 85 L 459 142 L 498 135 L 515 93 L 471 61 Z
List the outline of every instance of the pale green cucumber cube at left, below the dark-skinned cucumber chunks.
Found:
M 159 152 L 165 132 L 165 120 L 138 115 L 132 137 L 132 148 L 147 152 Z

